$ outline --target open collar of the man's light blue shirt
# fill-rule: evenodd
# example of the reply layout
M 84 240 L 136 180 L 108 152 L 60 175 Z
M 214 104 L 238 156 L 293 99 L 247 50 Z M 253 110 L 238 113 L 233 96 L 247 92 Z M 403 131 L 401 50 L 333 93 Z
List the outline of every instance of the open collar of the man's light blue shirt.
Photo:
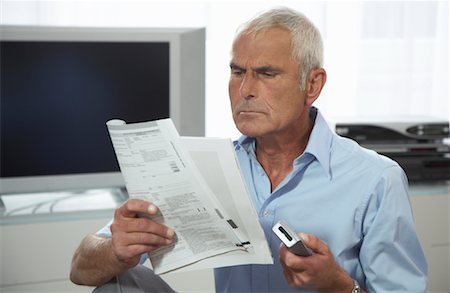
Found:
M 331 142 L 333 139 L 333 133 L 328 126 L 327 122 L 323 118 L 319 109 L 311 107 L 309 112 L 310 119 L 313 121 L 314 126 L 309 136 L 308 144 L 306 145 L 305 153 L 310 154 L 316 158 L 319 164 L 322 166 L 324 172 L 328 178 L 331 179 L 330 170 L 330 153 Z M 248 154 L 255 152 L 255 138 L 242 135 L 235 142 L 236 150 L 243 148 Z M 297 158 L 296 160 L 298 160 Z

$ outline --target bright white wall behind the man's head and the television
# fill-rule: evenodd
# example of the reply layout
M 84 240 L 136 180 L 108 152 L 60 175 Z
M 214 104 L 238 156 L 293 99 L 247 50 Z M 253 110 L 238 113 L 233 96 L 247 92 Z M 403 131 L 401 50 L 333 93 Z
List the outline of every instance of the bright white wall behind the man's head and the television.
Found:
M 305 13 L 324 38 L 326 116 L 449 118 L 448 1 L 14 1 L 3 24 L 206 27 L 206 134 L 236 138 L 228 101 L 237 27 L 261 10 Z M 175 9 L 174 9 L 175 8 Z

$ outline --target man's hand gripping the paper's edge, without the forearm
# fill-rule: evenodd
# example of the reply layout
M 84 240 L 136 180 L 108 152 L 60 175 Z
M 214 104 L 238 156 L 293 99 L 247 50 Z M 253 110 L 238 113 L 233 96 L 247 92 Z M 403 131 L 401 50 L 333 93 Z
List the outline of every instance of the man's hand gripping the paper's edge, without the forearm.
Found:
M 151 220 L 158 213 L 154 204 L 139 199 L 129 199 L 116 209 L 111 224 L 112 250 L 126 267 L 136 266 L 143 253 L 172 242 L 175 232 Z

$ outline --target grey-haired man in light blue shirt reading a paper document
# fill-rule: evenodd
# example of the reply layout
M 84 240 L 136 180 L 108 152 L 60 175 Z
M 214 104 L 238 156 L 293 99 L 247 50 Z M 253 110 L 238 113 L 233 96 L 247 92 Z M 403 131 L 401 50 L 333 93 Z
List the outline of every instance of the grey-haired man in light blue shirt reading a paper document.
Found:
M 235 151 L 276 261 L 215 269 L 218 292 L 426 291 L 405 173 L 336 135 L 312 106 L 326 82 L 322 51 L 314 25 L 287 8 L 259 15 L 234 40 L 229 94 L 243 134 Z M 72 281 L 103 285 L 170 243 L 176 231 L 137 218 L 156 211 L 139 200 L 119 207 L 110 229 L 81 243 Z M 280 219 L 302 232 L 312 256 L 280 245 L 271 231 Z M 147 281 L 156 287 L 136 287 L 170 290 Z

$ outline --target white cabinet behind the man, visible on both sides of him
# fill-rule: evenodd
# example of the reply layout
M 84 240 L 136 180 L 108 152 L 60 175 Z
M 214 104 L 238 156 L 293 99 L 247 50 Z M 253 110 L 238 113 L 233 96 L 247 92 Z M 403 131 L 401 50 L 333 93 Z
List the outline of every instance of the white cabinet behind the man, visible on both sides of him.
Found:
M 111 204 L 111 198 L 107 199 Z M 429 291 L 450 292 L 450 185 L 413 185 L 411 203 L 429 265 Z M 86 209 L 83 201 L 80 209 Z M 75 207 L 73 207 L 75 208 Z M 69 281 L 73 252 L 82 238 L 104 226 L 113 208 L 0 218 L 0 291 L 91 292 Z M 213 292 L 212 270 L 164 275 L 175 290 Z

